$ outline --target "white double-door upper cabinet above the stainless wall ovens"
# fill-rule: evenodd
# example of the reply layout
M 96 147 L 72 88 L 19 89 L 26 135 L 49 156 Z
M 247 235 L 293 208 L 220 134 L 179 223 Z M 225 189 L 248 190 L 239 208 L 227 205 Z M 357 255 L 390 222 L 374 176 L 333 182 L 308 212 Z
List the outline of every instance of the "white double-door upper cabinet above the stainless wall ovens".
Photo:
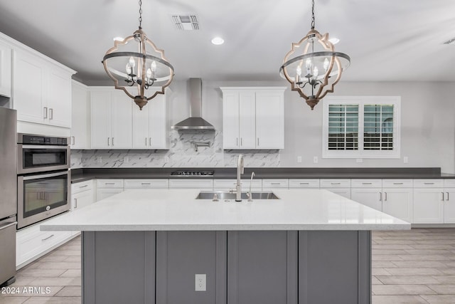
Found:
M 71 127 L 71 75 L 38 53 L 13 51 L 13 105 L 18 120 Z

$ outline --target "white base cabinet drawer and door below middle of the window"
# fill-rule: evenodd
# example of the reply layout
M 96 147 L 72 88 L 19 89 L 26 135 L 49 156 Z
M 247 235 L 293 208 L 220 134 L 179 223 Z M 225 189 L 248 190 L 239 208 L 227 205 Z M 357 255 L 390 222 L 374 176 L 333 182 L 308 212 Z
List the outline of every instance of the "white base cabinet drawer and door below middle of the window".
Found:
M 382 180 L 352 179 L 350 198 L 378 211 L 382 211 Z

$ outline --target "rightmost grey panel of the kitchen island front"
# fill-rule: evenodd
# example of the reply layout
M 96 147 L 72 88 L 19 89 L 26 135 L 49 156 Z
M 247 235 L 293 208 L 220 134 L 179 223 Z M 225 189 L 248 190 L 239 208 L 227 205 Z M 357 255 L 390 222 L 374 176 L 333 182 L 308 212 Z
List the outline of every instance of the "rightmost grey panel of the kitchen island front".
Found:
M 371 303 L 370 231 L 299 231 L 299 304 Z

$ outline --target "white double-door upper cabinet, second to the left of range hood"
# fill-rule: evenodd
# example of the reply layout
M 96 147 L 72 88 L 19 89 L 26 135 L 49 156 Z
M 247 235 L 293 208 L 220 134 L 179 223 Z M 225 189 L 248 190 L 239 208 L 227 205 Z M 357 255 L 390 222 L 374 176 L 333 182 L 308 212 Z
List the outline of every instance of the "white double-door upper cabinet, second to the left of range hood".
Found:
M 90 91 L 92 149 L 132 147 L 132 103 L 121 90 Z

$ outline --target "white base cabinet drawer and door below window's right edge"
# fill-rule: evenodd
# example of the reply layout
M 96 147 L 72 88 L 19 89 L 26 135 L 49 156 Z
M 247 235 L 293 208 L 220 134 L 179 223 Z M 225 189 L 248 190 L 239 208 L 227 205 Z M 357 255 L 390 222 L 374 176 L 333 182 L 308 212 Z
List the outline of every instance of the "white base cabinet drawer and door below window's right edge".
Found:
M 412 223 L 412 179 L 382 179 L 382 212 Z

